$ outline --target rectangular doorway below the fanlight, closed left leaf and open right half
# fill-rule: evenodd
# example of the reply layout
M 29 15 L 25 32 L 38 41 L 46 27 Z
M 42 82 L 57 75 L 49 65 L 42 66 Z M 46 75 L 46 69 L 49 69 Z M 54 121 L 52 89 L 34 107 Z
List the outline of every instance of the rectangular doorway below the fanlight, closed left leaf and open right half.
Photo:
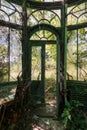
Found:
M 57 112 L 57 45 L 56 41 L 30 41 L 32 96 Z M 48 109 L 48 107 L 47 107 Z M 53 112 L 52 112 L 53 113 Z

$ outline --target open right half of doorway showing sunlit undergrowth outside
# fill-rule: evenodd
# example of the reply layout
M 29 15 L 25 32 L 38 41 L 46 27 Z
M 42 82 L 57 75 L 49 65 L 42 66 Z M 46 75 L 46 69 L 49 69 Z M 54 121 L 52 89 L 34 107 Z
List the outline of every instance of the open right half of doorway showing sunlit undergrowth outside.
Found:
M 56 114 L 56 44 L 45 46 L 45 103 L 50 112 Z

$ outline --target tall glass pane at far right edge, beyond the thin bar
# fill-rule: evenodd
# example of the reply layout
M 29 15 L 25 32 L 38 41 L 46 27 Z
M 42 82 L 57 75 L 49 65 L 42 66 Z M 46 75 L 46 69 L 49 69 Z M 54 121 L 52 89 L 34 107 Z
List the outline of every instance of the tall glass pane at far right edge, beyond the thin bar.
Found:
M 78 79 L 87 81 L 87 28 L 78 30 Z

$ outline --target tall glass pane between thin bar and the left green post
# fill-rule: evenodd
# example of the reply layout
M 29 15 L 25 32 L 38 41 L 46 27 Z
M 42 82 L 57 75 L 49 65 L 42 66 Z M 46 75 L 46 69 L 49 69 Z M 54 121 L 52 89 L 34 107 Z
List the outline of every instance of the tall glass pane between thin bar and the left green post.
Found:
M 17 80 L 22 71 L 22 46 L 21 32 L 15 29 L 10 30 L 10 81 Z

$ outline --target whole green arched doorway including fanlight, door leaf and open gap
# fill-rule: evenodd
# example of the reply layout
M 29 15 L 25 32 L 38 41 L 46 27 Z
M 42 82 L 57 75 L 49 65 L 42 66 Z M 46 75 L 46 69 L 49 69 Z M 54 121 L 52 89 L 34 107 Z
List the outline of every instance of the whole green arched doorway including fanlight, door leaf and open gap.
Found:
M 32 81 L 31 95 L 59 109 L 60 33 L 47 24 L 36 25 L 28 31 L 28 76 Z

